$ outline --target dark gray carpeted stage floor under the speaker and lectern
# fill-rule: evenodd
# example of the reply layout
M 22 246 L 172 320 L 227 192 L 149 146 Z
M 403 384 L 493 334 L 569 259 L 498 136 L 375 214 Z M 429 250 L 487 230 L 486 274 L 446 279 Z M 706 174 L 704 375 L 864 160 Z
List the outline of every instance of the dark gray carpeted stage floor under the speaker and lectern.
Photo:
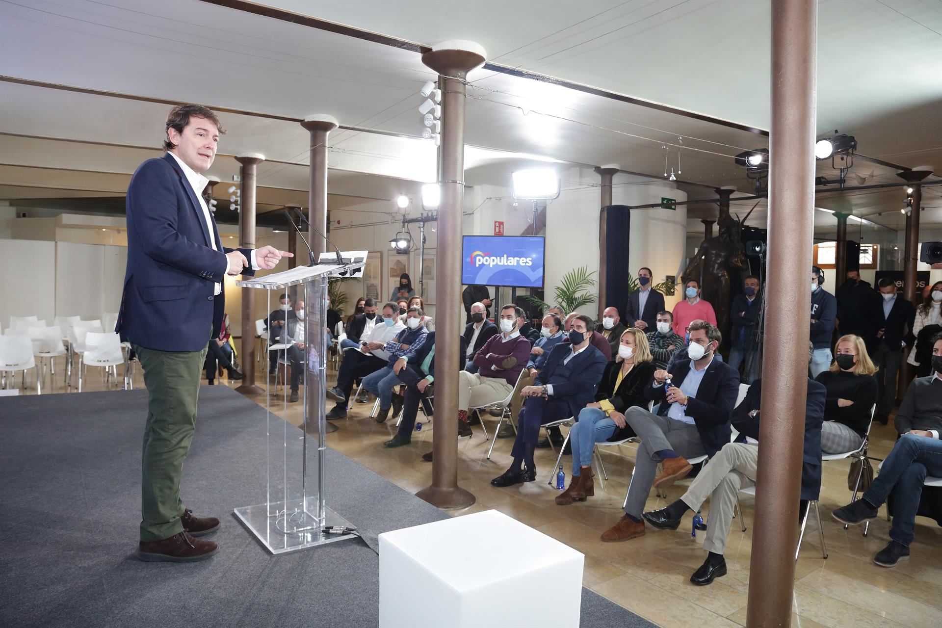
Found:
M 234 507 L 264 501 L 265 411 L 224 386 L 201 390 L 184 473 L 187 505 L 222 520 L 209 538 L 219 553 L 189 565 L 138 561 L 146 398 L 145 391 L 0 397 L 0 626 L 377 624 L 379 557 L 363 540 L 270 556 L 233 517 Z M 447 519 L 327 453 L 329 505 L 367 540 Z M 529 604 L 552 604 L 546 594 Z M 415 604 L 422 595 L 415 591 Z M 582 625 L 652 624 L 583 588 Z

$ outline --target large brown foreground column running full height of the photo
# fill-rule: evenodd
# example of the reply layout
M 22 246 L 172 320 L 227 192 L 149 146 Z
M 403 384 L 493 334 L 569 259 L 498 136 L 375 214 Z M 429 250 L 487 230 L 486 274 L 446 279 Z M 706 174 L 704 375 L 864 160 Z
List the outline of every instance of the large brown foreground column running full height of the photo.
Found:
M 817 0 L 772 0 L 769 261 L 746 625 L 788 626 L 798 541 L 815 211 Z M 795 313 L 805 322 L 795 326 Z M 795 333 L 800 330 L 801 333 Z

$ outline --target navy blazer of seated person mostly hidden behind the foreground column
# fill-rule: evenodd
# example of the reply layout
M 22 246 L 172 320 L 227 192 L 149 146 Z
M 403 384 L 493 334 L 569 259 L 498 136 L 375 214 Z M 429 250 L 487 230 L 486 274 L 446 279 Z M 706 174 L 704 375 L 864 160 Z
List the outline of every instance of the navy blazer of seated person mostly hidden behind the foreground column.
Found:
M 759 412 L 755 418 L 750 411 L 758 410 L 762 398 L 762 380 L 756 379 L 749 387 L 742 403 L 733 412 L 733 427 L 739 430 L 739 442 L 747 436 L 759 440 Z M 821 424 L 824 422 L 824 403 L 827 389 L 824 384 L 808 379 L 808 400 L 804 404 L 804 456 L 802 462 L 802 499 L 818 499 L 821 491 Z M 761 442 L 760 442 L 761 443 Z

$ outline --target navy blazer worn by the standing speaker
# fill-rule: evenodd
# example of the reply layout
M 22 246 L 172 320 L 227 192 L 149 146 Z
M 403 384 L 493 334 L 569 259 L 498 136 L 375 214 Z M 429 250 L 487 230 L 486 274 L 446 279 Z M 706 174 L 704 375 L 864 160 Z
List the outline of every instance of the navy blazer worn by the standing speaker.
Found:
M 225 253 L 234 249 L 222 246 L 215 219 L 213 233 L 207 230 L 200 201 L 171 154 L 138 166 L 127 188 L 126 212 L 127 270 L 115 331 L 150 349 L 202 351 L 219 335 Z M 239 250 L 251 260 L 252 250 Z M 254 271 L 249 267 L 242 274 Z M 223 288 L 214 298 L 217 282 Z

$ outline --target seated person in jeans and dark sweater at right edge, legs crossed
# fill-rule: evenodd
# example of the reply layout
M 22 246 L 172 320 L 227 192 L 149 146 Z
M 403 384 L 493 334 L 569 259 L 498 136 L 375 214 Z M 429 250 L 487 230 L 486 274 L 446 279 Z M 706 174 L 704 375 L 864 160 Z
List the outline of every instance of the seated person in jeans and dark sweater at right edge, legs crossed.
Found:
M 880 567 L 895 567 L 909 557 L 923 482 L 927 475 L 942 477 L 942 334 L 935 336 L 932 365 L 933 375 L 915 379 L 902 399 L 896 414 L 896 428 L 902 436 L 884 460 L 880 475 L 863 497 L 833 513 L 840 523 L 873 521 L 893 492 L 890 542 L 873 558 Z

